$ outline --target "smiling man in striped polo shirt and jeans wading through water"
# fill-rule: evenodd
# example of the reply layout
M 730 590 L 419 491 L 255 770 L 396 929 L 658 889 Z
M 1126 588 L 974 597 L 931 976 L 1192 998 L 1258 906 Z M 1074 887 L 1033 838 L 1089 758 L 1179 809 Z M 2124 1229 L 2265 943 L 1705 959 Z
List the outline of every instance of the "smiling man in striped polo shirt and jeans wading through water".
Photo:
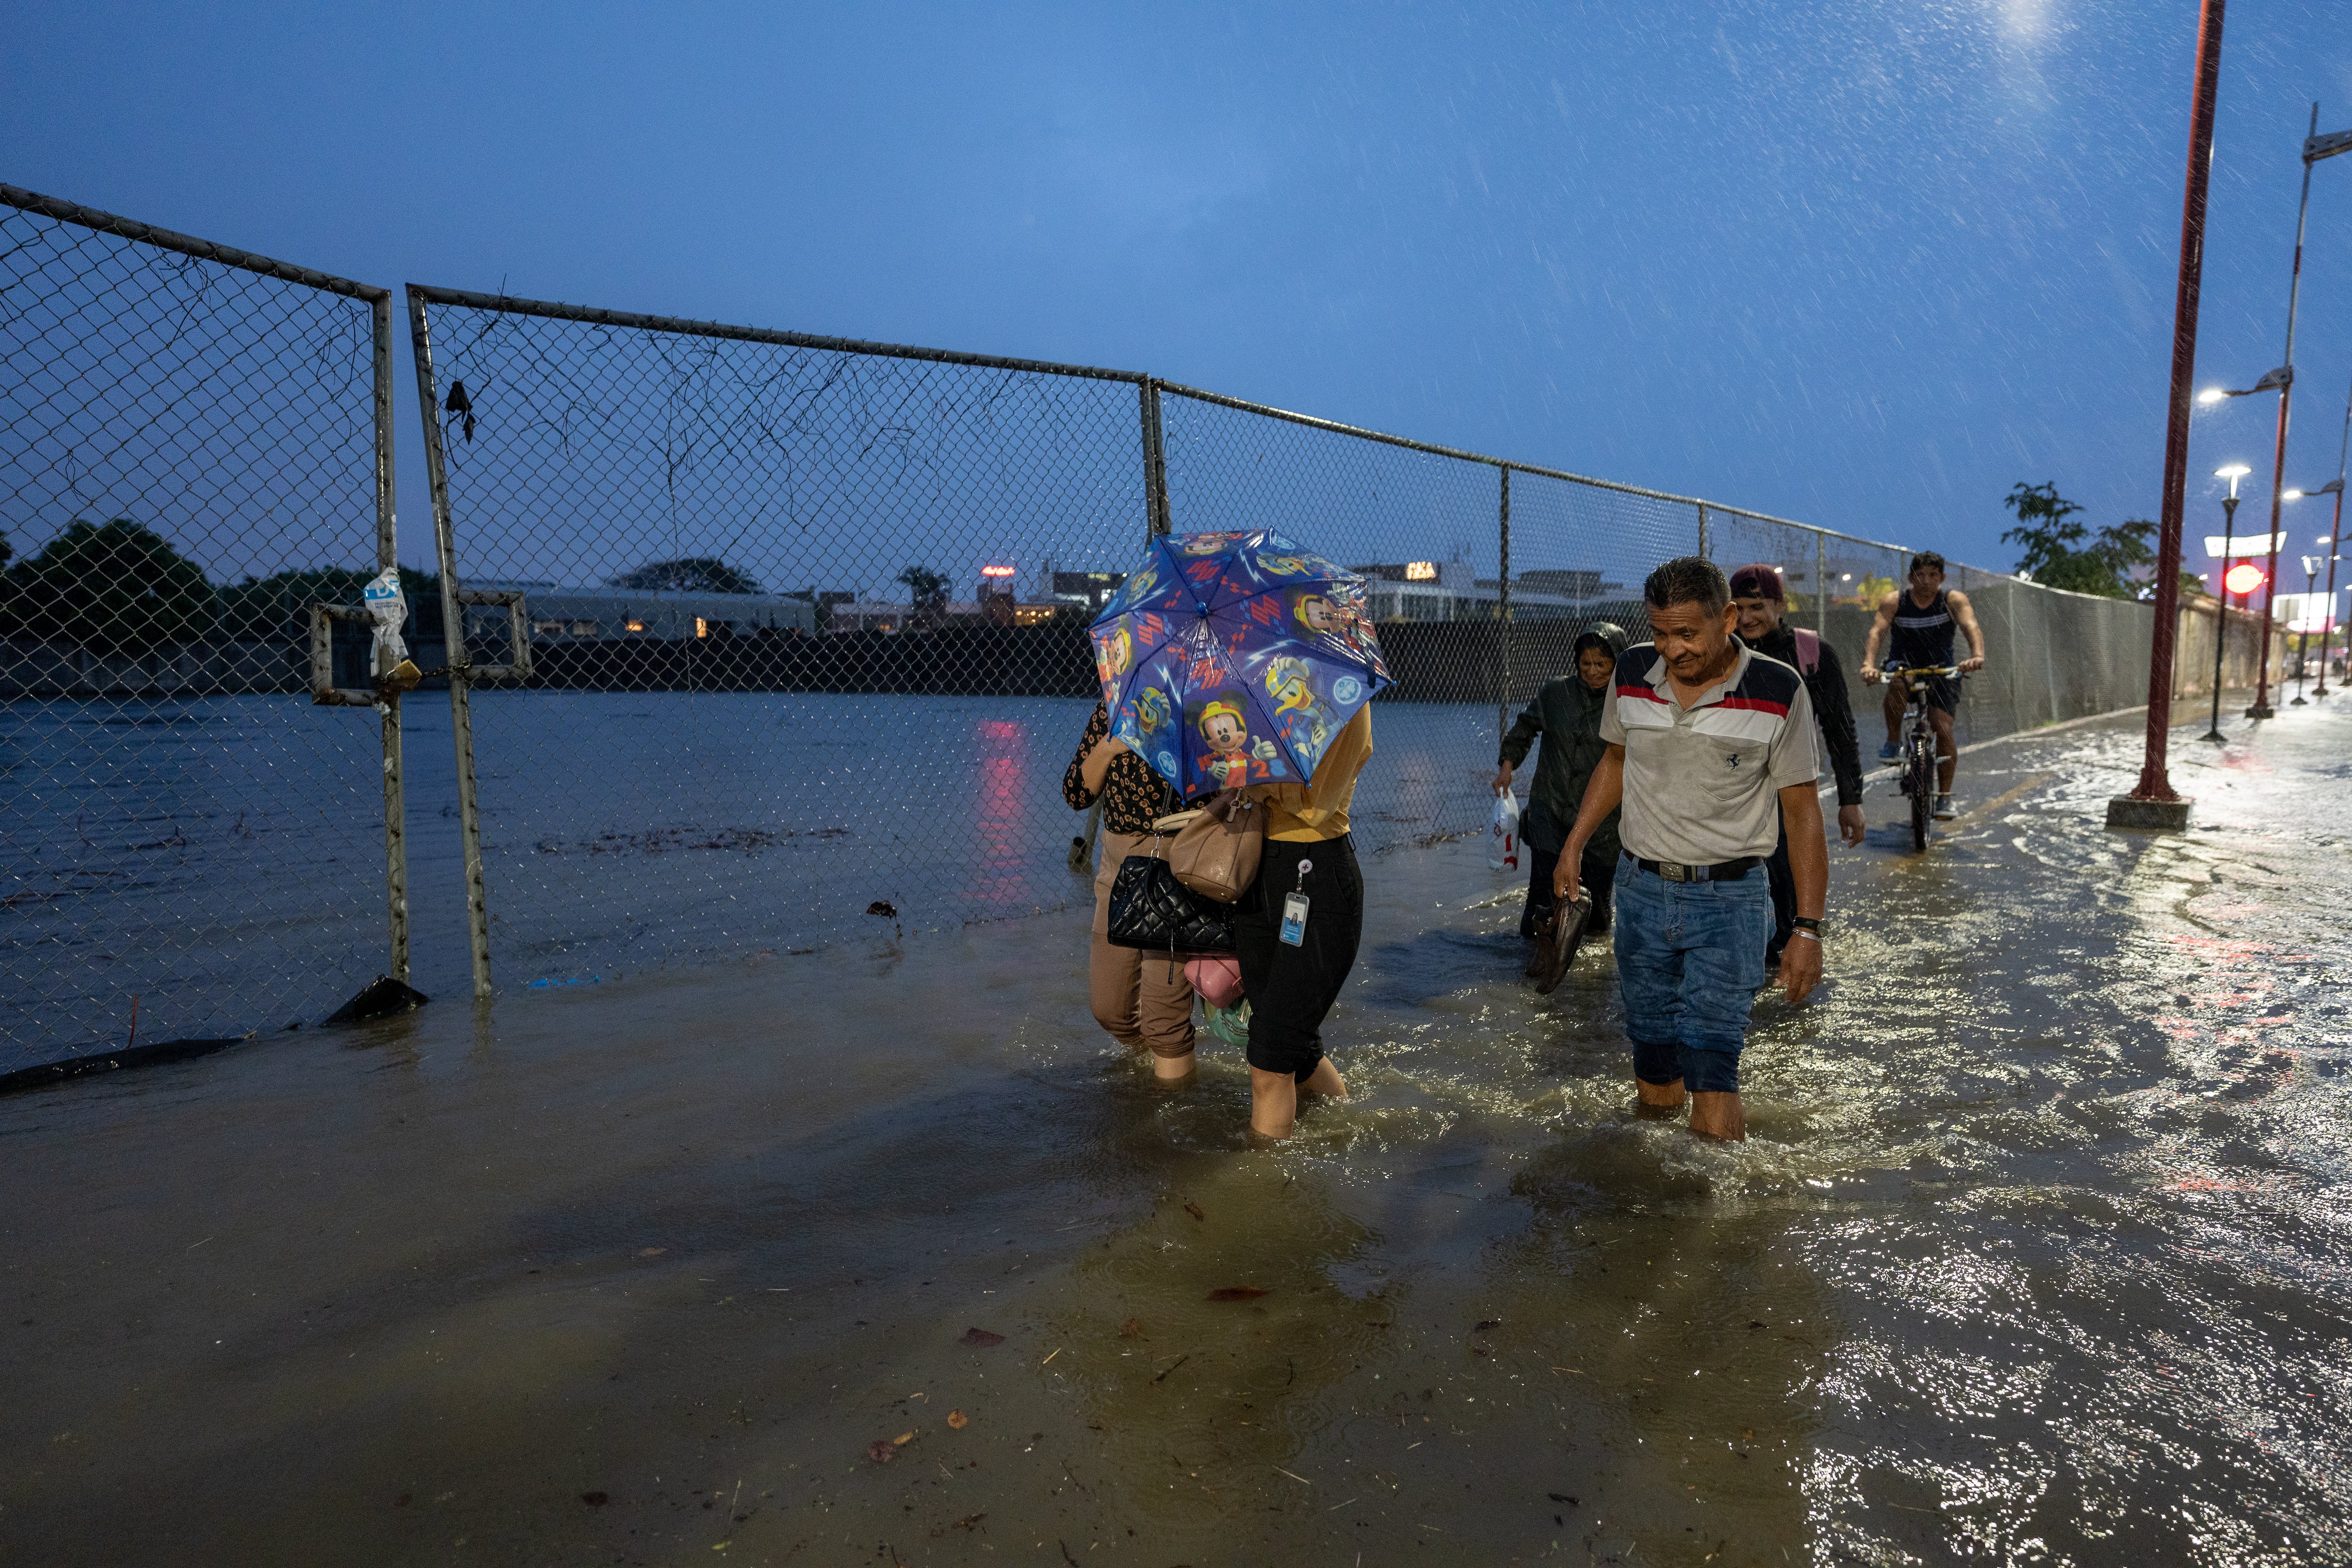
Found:
M 1783 823 L 1797 926 L 1780 985 L 1797 1006 L 1820 983 L 1830 849 L 1813 703 L 1797 670 L 1731 635 L 1740 611 L 1715 562 L 1665 562 L 1642 599 L 1651 642 L 1618 658 L 1609 752 L 1552 879 L 1562 905 L 1576 898 L 1583 849 L 1623 804 L 1616 961 L 1637 1105 L 1670 1117 L 1689 1100 L 1693 1133 L 1738 1140 L 1740 1046 L 1773 931 L 1764 858 Z

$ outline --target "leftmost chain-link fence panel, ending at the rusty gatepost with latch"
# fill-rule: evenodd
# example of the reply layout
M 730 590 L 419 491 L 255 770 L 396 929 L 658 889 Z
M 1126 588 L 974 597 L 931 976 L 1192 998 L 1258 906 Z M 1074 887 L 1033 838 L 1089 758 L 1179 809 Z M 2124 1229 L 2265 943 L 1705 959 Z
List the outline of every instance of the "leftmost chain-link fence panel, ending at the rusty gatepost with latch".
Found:
M 0 186 L 0 1072 L 407 978 L 393 562 L 388 292 Z

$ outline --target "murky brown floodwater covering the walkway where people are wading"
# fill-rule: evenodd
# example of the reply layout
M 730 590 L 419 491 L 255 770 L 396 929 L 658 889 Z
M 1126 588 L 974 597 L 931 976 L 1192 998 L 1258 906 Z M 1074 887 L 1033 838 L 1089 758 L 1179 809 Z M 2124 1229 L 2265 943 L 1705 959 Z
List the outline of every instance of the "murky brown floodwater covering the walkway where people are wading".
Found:
M 2133 724 L 1875 783 L 1740 1147 L 1479 844 L 1367 858 L 1275 1150 L 1080 910 L 0 1100 L 0 1561 L 2347 1561 L 2338 703 L 2180 837 Z

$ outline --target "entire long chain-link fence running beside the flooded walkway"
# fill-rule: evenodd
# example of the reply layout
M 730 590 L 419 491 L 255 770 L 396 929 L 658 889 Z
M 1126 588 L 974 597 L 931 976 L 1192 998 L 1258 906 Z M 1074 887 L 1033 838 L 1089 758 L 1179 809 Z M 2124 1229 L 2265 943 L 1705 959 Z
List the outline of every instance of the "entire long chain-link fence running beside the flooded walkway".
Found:
M 402 719 L 348 625 L 395 564 L 390 296 L 9 188 L 0 228 L 0 1048 L 407 978 Z M 1588 625 L 1642 635 L 1661 559 L 1778 567 L 1849 675 L 1907 567 L 1134 371 L 407 306 L 435 512 L 407 632 L 449 703 L 414 788 L 449 872 L 428 983 L 470 959 L 482 994 L 1087 900 L 1058 790 L 1087 623 L 1155 529 L 1275 527 L 1371 578 L 1371 851 L 1484 825 L 1501 731 Z M 1964 738 L 2140 701 L 2145 607 L 1952 585 L 1987 635 Z

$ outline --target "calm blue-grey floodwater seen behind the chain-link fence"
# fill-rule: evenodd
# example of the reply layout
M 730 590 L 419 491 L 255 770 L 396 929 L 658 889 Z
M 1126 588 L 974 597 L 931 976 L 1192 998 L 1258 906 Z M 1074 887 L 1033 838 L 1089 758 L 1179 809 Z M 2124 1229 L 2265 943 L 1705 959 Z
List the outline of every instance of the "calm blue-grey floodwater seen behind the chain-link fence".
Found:
M 555 987 L 1091 898 L 1087 698 L 475 693 L 492 971 Z M 1359 837 L 1484 825 L 1496 708 L 1383 703 Z M 442 693 L 402 715 L 412 980 L 473 987 Z M 0 703 L 0 1072 L 310 1025 L 386 969 L 376 715 L 301 696 Z M 132 999 L 139 997 L 136 1030 Z

